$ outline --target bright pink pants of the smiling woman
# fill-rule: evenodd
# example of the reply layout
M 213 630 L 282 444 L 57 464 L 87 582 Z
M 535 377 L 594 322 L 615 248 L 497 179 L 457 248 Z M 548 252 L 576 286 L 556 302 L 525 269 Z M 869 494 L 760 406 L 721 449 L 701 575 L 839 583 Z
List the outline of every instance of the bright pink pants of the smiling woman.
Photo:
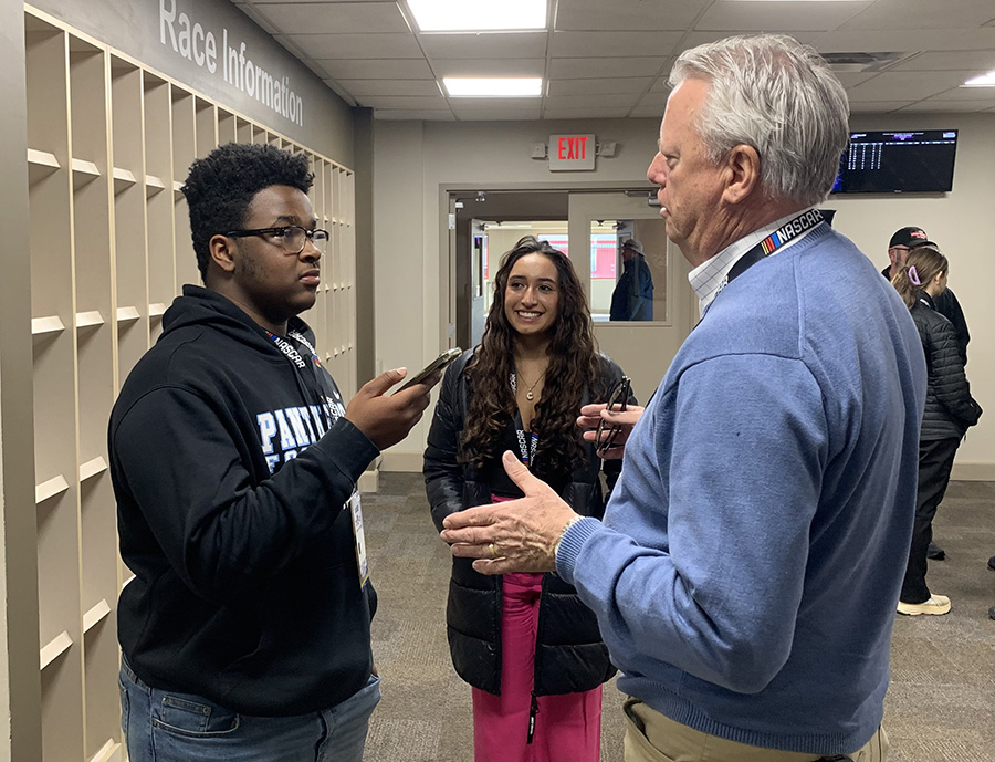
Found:
M 527 743 L 542 574 L 505 574 L 501 608 L 501 696 L 473 689 L 475 762 L 598 762 L 601 687 L 540 696 Z

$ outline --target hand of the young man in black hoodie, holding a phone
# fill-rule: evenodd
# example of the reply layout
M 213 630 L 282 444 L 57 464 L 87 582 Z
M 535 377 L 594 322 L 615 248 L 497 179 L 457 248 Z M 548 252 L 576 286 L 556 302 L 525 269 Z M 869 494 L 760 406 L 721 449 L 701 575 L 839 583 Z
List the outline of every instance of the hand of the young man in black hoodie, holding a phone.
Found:
M 442 377 L 441 373 L 434 373 L 420 384 L 387 396 L 386 392 L 406 375 L 406 368 L 385 370 L 364 384 L 346 408 L 345 417 L 379 450 L 408 436 L 429 406 L 429 392 Z

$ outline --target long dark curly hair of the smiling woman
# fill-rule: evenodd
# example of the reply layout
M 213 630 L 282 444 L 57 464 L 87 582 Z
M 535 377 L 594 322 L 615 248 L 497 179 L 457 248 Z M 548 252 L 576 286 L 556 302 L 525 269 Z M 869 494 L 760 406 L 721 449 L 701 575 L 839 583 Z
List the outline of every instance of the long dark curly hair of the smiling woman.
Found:
M 494 301 L 488 314 L 483 338 L 467 366 L 467 378 L 473 390 L 467 426 L 462 434 L 460 460 L 480 467 L 501 455 L 502 432 L 509 417 L 517 409 L 509 378 L 514 368 L 517 333 L 504 314 L 504 294 L 512 268 L 523 257 L 538 253 L 556 265 L 559 302 L 553 338 L 547 348 L 549 366 L 543 385 L 542 400 L 535 406 L 532 430 L 538 434 L 536 473 L 564 478 L 585 458 L 577 428 L 582 398 L 590 390 L 590 399 L 600 399 L 601 358 L 595 345 L 590 311 L 574 265 L 562 251 L 533 236 L 521 239 L 504 254 L 494 278 Z

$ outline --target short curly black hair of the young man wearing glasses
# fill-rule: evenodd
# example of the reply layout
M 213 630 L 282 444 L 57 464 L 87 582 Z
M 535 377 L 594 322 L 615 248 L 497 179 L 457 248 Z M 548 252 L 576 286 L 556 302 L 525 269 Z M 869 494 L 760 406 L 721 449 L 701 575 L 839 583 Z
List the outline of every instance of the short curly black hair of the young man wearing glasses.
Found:
M 249 203 L 260 190 L 285 185 L 306 194 L 313 181 L 304 154 L 271 145 L 229 143 L 193 161 L 181 190 L 190 209 L 190 237 L 203 281 L 211 237 L 244 227 Z

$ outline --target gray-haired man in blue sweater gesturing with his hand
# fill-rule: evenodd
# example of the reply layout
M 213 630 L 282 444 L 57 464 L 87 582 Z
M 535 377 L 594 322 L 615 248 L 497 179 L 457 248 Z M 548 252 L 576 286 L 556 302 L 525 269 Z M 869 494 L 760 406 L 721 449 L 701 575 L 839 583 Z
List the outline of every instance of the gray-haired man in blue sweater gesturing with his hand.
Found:
M 769 34 L 684 51 L 670 84 L 647 177 L 703 315 L 604 521 L 506 452 L 525 498 L 442 539 L 480 572 L 577 588 L 629 697 L 628 762 L 878 762 L 926 370 L 898 293 L 815 208 L 846 93 Z

